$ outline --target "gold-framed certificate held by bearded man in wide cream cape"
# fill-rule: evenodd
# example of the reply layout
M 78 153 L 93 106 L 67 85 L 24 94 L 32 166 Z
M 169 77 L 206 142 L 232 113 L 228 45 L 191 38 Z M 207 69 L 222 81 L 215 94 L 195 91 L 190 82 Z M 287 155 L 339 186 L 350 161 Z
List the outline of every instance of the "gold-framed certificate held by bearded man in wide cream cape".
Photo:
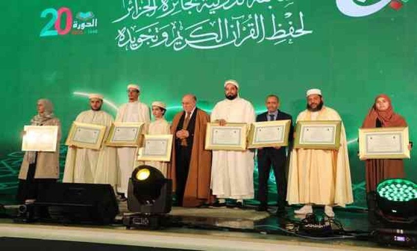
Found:
M 298 121 L 295 148 L 338 149 L 341 121 Z

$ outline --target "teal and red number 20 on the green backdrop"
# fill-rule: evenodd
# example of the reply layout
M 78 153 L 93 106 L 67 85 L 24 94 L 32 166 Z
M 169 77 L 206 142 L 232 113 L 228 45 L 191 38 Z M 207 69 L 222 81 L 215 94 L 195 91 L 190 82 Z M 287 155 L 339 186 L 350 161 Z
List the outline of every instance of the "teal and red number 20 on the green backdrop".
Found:
M 61 29 L 61 18 L 64 13 L 66 14 L 65 28 Z M 65 35 L 70 32 L 72 25 L 72 13 L 70 9 L 67 7 L 61 7 L 58 11 L 54 8 L 44 9 L 40 13 L 40 17 L 46 18 L 48 14 L 50 14 L 52 18 L 42 28 L 39 36 Z

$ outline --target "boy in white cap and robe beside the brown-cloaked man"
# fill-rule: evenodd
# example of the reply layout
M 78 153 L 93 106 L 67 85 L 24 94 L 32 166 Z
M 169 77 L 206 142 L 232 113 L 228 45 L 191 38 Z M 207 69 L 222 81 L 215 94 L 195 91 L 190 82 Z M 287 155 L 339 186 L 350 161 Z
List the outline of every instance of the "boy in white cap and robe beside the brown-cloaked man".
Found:
M 163 117 L 166 111 L 165 103 L 155 101 L 152 103 L 152 115 L 155 117 L 155 121 L 149 124 L 147 134 L 159 135 L 159 134 L 171 134 L 169 123 Z M 150 165 L 157 168 L 166 177 L 168 162 L 164 161 L 145 161 L 145 165 Z

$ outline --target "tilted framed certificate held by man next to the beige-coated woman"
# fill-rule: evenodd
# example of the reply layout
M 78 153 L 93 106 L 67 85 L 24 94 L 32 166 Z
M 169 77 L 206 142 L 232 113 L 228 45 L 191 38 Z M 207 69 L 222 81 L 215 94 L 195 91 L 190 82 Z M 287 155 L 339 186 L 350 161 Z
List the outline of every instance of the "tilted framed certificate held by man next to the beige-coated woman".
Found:
M 66 145 L 98 150 L 104 138 L 106 126 L 73 122 Z

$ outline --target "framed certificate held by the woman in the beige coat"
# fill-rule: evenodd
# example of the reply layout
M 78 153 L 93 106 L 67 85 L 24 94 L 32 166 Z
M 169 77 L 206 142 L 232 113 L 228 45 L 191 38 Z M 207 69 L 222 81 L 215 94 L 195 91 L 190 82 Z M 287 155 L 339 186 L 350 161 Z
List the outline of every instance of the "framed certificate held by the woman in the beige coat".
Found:
M 57 150 L 57 125 L 25 125 L 22 151 L 55 152 Z

